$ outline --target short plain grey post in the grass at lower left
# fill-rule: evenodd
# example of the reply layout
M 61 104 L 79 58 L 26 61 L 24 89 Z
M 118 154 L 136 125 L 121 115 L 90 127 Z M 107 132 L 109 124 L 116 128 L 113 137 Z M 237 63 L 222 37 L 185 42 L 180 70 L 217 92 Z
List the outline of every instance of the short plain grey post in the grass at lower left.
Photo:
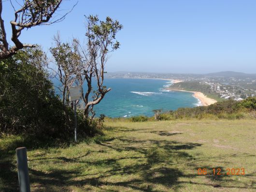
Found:
M 29 177 L 28 177 L 28 158 L 26 147 L 16 149 L 18 178 L 20 192 L 30 192 Z

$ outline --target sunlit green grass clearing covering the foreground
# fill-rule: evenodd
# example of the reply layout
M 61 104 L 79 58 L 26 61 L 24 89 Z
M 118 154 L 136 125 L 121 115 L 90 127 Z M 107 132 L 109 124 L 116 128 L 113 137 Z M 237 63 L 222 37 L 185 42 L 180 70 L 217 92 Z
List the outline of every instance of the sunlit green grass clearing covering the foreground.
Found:
M 104 136 L 28 149 L 32 192 L 255 192 L 255 120 L 105 122 Z M 17 191 L 15 148 L 0 139 L 0 192 Z M 50 141 L 49 141 L 50 142 Z M 26 142 L 25 142 L 26 143 Z M 212 168 L 245 175 L 213 176 Z M 207 168 L 210 175 L 198 175 Z

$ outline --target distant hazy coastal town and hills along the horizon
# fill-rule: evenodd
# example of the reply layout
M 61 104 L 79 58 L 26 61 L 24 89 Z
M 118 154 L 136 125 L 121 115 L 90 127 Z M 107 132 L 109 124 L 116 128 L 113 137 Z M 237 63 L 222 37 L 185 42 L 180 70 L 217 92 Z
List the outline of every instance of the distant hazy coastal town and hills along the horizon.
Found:
M 106 77 L 172 79 L 176 80 L 176 83 L 179 82 L 172 87 L 173 89 L 214 94 L 221 99 L 239 101 L 250 96 L 256 96 L 256 74 L 232 71 L 209 74 L 115 72 L 107 73 Z

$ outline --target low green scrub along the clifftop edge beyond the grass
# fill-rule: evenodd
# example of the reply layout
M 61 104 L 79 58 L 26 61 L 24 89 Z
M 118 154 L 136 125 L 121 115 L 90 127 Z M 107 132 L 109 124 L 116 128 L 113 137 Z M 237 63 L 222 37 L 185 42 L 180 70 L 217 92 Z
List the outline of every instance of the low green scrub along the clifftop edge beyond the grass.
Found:
M 242 101 L 225 100 L 210 106 L 195 108 L 179 108 L 159 113 L 154 117 L 136 116 L 131 117 L 131 122 L 144 122 L 155 120 L 189 120 L 189 119 L 256 119 L 256 97 L 249 97 Z M 157 118 L 156 118 L 157 116 Z

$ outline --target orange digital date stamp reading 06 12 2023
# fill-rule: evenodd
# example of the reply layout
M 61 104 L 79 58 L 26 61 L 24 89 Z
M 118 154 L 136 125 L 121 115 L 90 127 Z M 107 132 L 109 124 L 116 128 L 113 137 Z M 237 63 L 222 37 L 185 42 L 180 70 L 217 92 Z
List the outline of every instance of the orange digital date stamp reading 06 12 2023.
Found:
M 245 175 L 244 168 L 213 168 L 211 171 L 207 168 L 199 168 L 198 175 Z

